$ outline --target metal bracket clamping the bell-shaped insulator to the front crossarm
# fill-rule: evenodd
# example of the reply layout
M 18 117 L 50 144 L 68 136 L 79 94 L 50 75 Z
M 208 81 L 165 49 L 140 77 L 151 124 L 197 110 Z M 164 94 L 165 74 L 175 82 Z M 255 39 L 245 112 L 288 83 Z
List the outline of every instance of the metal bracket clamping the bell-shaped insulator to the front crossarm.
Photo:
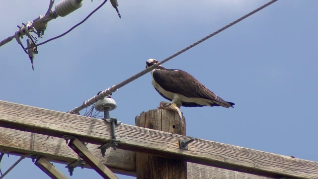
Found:
M 105 157 L 105 152 L 106 149 L 108 149 L 109 147 L 113 147 L 114 150 L 117 149 L 118 146 L 118 142 L 120 142 L 120 140 L 116 139 L 116 133 L 115 133 L 115 124 L 120 124 L 121 122 L 118 121 L 116 118 L 110 118 L 110 119 L 105 119 L 103 118 L 103 120 L 107 123 L 111 123 L 111 134 L 112 134 L 112 139 L 108 142 L 106 142 L 105 144 L 99 146 L 97 149 L 100 149 L 100 153 L 103 157 Z

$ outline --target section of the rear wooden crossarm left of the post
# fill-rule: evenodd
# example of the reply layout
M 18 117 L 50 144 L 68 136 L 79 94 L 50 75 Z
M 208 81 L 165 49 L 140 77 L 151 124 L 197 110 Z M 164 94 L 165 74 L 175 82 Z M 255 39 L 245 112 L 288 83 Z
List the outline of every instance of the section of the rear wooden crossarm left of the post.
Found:
M 105 157 L 102 157 L 99 145 L 87 144 L 88 150 L 98 157 L 111 171 L 117 174 L 135 176 L 136 161 L 135 153 L 117 149 L 107 149 Z M 12 155 L 34 154 L 43 156 L 50 162 L 70 164 L 78 159 L 78 155 L 58 137 L 24 132 L 0 127 L 0 152 Z M 87 164 L 85 168 L 90 168 Z

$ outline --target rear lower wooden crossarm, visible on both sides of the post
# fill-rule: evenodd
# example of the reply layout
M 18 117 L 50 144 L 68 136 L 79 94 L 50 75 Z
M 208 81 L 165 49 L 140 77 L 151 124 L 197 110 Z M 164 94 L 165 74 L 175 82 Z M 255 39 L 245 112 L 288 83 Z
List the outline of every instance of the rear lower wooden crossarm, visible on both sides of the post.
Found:
M 0 152 L 12 155 L 36 154 L 50 158 L 50 162 L 70 164 L 78 159 L 64 139 L 53 139 L 42 134 L 35 134 L 14 129 L 0 127 Z M 97 145 L 86 145 L 90 152 L 117 174 L 136 176 L 135 152 L 117 149 L 106 150 L 106 156 L 102 157 Z M 89 166 L 84 166 L 89 168 Z M 210 166 L 187 163 L 188 179 L 276 179 L 260 177 L 251 174 L 235 172 Z

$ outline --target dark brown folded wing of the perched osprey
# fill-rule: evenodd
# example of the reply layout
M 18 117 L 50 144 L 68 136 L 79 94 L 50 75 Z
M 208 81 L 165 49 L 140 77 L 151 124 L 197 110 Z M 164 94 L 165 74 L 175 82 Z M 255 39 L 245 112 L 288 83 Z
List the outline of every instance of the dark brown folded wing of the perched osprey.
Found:
M 155 70 L 153 77 L 164 90 L 179 93 L 186 97 L 210 99 L 224 107 L 232 106 L 202 85 L 192 75 L 182 70 Z

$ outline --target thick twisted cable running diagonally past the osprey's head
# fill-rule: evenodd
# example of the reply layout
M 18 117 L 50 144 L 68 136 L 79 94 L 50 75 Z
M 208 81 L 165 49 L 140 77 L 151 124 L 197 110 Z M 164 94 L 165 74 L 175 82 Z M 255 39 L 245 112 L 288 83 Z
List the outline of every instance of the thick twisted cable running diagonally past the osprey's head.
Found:
M 232 23 L 230 23 L 230 24 L 228 24 L 228 25 L 222 27 L 221 29 L 219 29 L 219 30 L 213 32 L 212 34 L 210 34 L 210 35 L 208 35 L 208 36 L 202 38 L 201 40 L 195 42 L 194 44 L 192 44 L 192 45 L 190 45 L 190 46 L 188 46 L 188 47 L 186 47 L 186 48 L 180 50 L 179 52 L 177 52 L 177 53 L 171 55 L 170 57 L 168 57 L 168 58 L 162 60 L 162 61 L 159 62 L 158 64 L 153 65 L 153 66 L 151 66 L 151 67 L 149 67 L 149 68 L 147 68 L 147 69 L 145 69 L 145 70 L 139 72 L 138 74 L 136 74 L 136 75 L 130 77 L 129 79 L 127 79 L 127 80 L 121 82 L 121 83 L 118 84 L 118 85 L 114 85 L 114 86 L 112 86 L 111 88 L 108 88 L 108 89 L 106 89 L 106 90 L 100 92 L 99 95 L 95 95 L 95 96 L 91 97 L 90 99 L 88 99 L 88 101 L 84 101 L 82 105 L 80 105 L 79 107 L 76 107 L 76 108 L 70 110 L 68 113 L 78 114 L 80 110 L 82 110 L 82 109 L 84 109 L 84 108 L 90 106 L 91 104 L 94 104 L 98 99 L 101 99 L 101 98 L 103 98 L 103 97 L 108 96 L 108 95 L 111 94 L 112 92 L 115 92 L 117 89 L 120 89 L 121 87 L 123 87 L 123 86 L 129 84 L 130 82 L 132 82 L 132 81 L 138 79 L 139 77 L 141 77 L 141 76 L 147 74 L 148 72 L 150 72 L 150 71 L 156 69 L 159 65 L 161 65 L 161 64 L 163 64 L 163 63 L 165 63 L 165 62 L 167 62 L 168 60 L 171 60 L 172 58 L 174 58 L 174 57 L 180 55 L 181 53 L 183 53 L 183 52 L 189 50 L 190 48 L 192 48 L 192 47 L 194 47 L 194 46 L 200 44 L 201 42 L 207 40 L 208 38 L 213 37 L 214 35 L 216 35 L 216 34 L 222 32 L 223 30 L 225 30 L 225 29 L 231 27 L 232 25 L 238 23 L 239 21 L 245 19 L 246 17 L 248 17 L 248 16 L 250 16 L 250 15 L 256 13 L 256 12 L 258 12 L 259 10 L 261 10 L 261 9 L 263 9 L 263 8 L 265 8 L 265 7 L 267 7 L 268 5 L 270 5 L 270 4 L 272 4 L 272 3 L 276 2 L 276 1 L 277 1 L 277 0 L 271 0 L 271 1 L 267 2 L 266 4 L 264 4 L 264 5 L 260 6 L 260 7 L 258 7 L 257 9 L 255 9 L 255 10 L 249 12 L 248 14 L 246 14 L 246 15 L 240 17 L 239 19 L 237 19 L 237 20 L 233 21 Z

